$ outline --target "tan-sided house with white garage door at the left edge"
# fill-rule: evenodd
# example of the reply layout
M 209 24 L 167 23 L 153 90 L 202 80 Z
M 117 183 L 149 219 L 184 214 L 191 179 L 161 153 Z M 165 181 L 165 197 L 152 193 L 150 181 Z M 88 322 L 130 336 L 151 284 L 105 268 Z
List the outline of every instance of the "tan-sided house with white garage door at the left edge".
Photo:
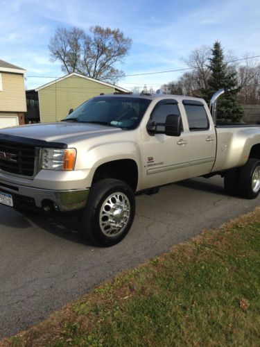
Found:
M 24 124 L 26 70 L 0 60 L 0 128 Z

